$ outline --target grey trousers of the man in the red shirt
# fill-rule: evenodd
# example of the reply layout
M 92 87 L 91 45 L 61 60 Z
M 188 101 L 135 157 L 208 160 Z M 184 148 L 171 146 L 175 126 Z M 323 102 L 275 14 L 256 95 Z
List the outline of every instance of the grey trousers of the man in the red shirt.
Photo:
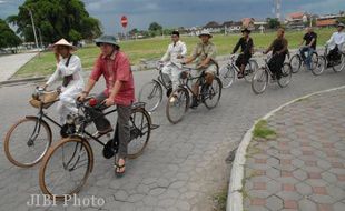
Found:
M 96 97 L 97 100 L 97 107 L 100 105 L 100 103 L 107 99 L 107 96 L 103 93 L 100 93 Z M 89 110 L 89 114 L 91 118 L 97 118 L 102 114 L 102 110 L 105 110 L 107 107 L 101 105 L 99 110 L 91 109 Z M 128 150 L 127 145 L 130 141 L 130 125 L 129 120 L 131 115 L 131 105 L 120 105 L 117 104 L 117 125 L 116 125 L 116 132 L 115 134 L 118 134 L 118 137 L 115 135 L 115 139 L 118 139 L 119 141 L 119 150 L 118 150 L 118 157 L 119 158 L 126 158 Z M 111 127 L 109 120 L 107 120 L 106 117 L 97 118 L 93 121 L 96 128 L 98 131 L 107 130 L 109 127 Z

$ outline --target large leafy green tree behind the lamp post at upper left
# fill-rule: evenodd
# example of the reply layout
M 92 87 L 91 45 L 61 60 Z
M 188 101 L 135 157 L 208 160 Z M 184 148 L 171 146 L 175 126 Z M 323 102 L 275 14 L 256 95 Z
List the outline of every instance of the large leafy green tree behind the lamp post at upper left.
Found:
M 89 16 L 80 0 L 26 0 L 19 7 L 19 13 L 9 17 L 8 21 L 18 26 L 18 33 L 27 41 L 33 41 L 29 9 L 46 43 L 61 38 L 77 42 L 80 39 L 93 39 L 101 33 L 99 20 Z

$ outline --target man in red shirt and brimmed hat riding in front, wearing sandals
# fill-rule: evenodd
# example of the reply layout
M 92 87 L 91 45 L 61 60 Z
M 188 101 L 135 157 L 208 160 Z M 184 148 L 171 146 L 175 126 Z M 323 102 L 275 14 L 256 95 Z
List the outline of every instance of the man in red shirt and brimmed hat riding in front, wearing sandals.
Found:
M 117 105 L 119 150 L 115 163 L 115 172 L 117 175 L 122 175 L 125 173 L 127 144 L 130 141 L 129 118 L 131 104 L 135 101 L 134 78 L 129 60 L 120 51 L 115 37 L 102 36 L 96 39 L 96 44 L 100 47 L 101 54 L 96 60 L 95 68 L 80 100 L 83 100 L 90 93 L 98 79 L 103 76 L 107 88 L 96 99 L 99 104 L 105 104 L 106 107 Z M 90 114 L 97 117 L 99 112 L 92 111 Z M 106 118 L 96 119 L 95 124 L 99 133 L 111 131 L 110 122 Z

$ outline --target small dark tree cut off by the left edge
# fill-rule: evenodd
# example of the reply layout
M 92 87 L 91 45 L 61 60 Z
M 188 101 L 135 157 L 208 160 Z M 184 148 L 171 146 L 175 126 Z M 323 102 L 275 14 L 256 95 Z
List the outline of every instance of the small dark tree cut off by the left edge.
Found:
M 18 47 L 21 40 L 8 23 L 0 19 L 0 48 Z

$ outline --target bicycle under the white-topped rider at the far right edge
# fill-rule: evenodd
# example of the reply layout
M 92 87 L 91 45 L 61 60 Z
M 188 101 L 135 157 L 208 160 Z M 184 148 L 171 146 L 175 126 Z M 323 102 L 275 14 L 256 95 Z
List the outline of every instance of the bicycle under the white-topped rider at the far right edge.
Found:
M 324 72 L 325 69 L 332 67 L 334 72 L 341 72 L 345 69 L 345 52 L 339 52 L 339 59 L 337 61 L 328 61 L 328 46 L 325 46 L 324 54 L 318 56 L 317 68 L 313 70 L 315 76 L 319 76 Z

